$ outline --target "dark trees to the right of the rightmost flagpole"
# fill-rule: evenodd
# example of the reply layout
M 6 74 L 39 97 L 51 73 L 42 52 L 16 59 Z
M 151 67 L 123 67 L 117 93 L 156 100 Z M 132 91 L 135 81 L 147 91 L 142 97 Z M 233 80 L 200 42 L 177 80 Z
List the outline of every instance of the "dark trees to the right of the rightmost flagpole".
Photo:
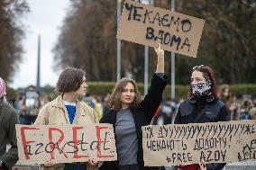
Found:
M 256 71 L 255 1 L 192 0 L 179 3 L 178 12 L 206 20 L 197 59 L 181 59 L 189 61 L 187 67 L 209 65 L 214 68 L 219 83 L 256 82 L 252 74 Z

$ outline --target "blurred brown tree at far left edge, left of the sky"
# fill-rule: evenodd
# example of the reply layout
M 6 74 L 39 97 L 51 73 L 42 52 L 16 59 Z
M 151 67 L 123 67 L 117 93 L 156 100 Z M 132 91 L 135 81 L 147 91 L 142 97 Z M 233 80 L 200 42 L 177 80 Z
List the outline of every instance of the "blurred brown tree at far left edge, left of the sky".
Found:
M 0 1 L 0 76 L 11 80 L 22 59 L 23 25 L 20 18 L 29 11 L 25 0 Z

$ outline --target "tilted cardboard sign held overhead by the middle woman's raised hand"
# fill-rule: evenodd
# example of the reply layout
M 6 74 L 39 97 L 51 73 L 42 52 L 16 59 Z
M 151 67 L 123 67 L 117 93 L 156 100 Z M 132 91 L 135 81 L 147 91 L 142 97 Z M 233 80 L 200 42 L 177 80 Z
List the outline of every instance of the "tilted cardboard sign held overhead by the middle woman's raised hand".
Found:
M 117 39 L 197 58 L 205 21 L 182 13 L 126 0 Z

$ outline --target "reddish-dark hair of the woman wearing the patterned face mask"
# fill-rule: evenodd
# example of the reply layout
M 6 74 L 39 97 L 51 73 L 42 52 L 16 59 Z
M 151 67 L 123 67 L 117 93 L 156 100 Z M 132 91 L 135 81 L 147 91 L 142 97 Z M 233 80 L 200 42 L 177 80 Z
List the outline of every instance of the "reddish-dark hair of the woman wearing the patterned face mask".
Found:
M 204 65 L 201 65 L 199 67 L 193 67 L 193 70 L 191 72 L 191 75 L 194 71 L 199 71 L 203 73 L 203 76 L 206 78 L 206 81 L 211 81 L 212 82 L 212 88 L 211 88 L 211 93 L 214 95 L 215 99 L 219 99 L 219 96 L 217 95 L 217 83 L 215 80 L 215 72 L 211 67 L 207 67 Z M 188 97 L 192 96 L 192 89 L 190 86 L 189 92 L 188 92 Z

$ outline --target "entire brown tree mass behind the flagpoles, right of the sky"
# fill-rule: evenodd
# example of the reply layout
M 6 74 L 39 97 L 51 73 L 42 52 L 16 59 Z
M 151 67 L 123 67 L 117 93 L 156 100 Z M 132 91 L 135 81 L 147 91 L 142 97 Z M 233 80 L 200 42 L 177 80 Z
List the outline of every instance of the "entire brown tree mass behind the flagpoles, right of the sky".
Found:
M 116 1 L 72 0 L 54 48 L 56 66 L 80 67 L 89 80 L 115 80 Z M 155 0 L 154 5 L 169 9 L 171 0 Z M 197 58 L 176 54 L 176 83 L 188 83 L 195 65 L 213 67 L 219 83 L 255 83 L 256 4 L 238 1 L 176 1 L 176 11 L 206 20 Z M 131 73 L 143 82 L 144 46 L 122 40 L 122 76 Z M 155 69 L 155 52 L 150 48 L 149 72 Z M 170 75 L 167 52 L 166 72 Z

